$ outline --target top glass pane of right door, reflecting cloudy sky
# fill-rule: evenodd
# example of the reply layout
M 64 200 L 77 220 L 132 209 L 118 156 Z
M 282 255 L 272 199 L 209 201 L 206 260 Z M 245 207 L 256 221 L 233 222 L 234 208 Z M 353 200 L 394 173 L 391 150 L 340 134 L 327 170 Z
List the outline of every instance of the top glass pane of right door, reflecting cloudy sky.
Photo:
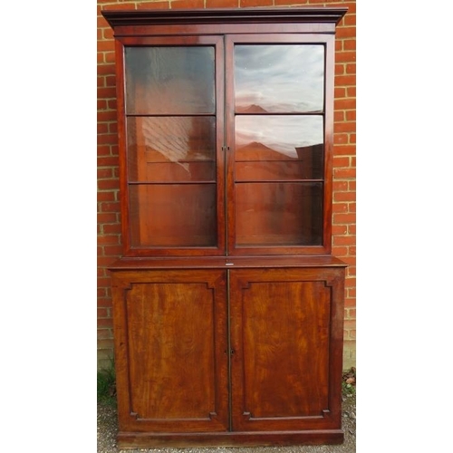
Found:
M 235 46 L 236 112 L 319 112 L 323 92 L 323 45 Z

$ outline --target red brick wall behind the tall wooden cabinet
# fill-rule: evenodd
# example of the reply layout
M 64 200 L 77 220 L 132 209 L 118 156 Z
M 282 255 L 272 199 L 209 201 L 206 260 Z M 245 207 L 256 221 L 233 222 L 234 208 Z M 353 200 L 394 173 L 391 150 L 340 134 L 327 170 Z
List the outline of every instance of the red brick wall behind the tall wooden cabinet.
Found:
M 344 368 L 355 366 L 355 11 L 354 1 L 98 0 L 98 366 L 112 357 L 111 289 L 106 267 L 121 253 L 112 32 L 102 9 L 177 9 L 247 6 L 347 6 L 337 29 L 333 158 L 333 255 L 345 261 Z

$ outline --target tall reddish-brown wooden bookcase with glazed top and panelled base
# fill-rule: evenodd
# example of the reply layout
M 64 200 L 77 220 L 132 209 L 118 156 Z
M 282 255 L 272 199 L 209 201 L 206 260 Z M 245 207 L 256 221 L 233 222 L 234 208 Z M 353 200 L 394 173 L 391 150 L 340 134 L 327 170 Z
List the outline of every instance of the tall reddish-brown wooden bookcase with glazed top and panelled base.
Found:
M 102 12 L 117 60 L 119 448 L 342 442 L 345 265 L 331 243 L 334 33 L 345 12 Z M 270 67 L 268 51 L 312 49 L 316 99 L 249 101 L 254 75 L 235 85 L 235 48 L 244 62 L 258 45 Z M 181 58 L 162 59 L 169 49 Z M 204 85 L 193 51 L 208 55 Z M 283 97 L 279 77 L 269 85 Z M 293 130 L 314 132 L 285 137 Z

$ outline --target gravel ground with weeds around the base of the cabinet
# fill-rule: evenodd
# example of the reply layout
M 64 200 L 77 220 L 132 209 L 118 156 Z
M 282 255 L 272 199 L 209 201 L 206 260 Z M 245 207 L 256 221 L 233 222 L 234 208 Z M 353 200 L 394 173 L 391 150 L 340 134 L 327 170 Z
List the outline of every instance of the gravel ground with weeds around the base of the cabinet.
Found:
M 355 452 L 355 396 L 344 398 L 342 404 L 342 445 L 321 445 L 301 447 L 255 447 L 255 448 L 156 448 L 127 449 L 116 447 L 118 424 L 116 410 L 108 405 L 98 404 L 98 453 L 354 453 Z

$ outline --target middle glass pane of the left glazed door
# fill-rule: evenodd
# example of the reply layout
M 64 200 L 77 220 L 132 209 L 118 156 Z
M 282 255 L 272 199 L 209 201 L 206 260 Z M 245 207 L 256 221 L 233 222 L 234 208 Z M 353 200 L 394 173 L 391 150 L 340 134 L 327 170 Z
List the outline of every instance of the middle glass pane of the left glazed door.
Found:
M 214 181 L 215 117 L 129 117 L 129 180 Z

